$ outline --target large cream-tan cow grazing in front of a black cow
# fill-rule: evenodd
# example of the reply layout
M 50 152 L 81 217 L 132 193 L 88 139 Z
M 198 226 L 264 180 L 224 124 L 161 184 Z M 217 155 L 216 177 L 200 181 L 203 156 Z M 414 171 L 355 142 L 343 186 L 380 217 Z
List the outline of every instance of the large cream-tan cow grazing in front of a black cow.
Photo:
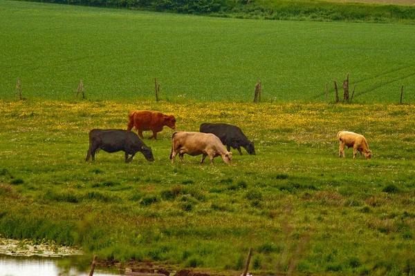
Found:
M 208 156 L 210 163 L 213 165 L 213 159 L 216 156 L 221 156 L 226 164 L 232 163 L 232 152 L 226 150 L 221 140 L 211 133 L 201 132 L 187 132 L 176 131 L 172 135 L 172 152 L 170 153 L 170 159 L 172 163 L 174 158 L 178 154 L 183 163 L 183 155 L 202 155 L 201 164 L 203 160 Z

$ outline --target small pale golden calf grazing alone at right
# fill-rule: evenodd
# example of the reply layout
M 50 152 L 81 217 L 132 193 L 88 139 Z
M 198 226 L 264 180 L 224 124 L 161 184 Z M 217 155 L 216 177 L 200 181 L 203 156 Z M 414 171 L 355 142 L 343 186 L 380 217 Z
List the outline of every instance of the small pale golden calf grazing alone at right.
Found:
M 371 150 L 369 150 L 367 141 L 362 135 L 350 131 L 339 131 L 337 137 L 340 141 L 339 157 L 342 157 L 342 155 L 344 157 L 344 146 L 347 146 L 347 148 L 353 147 L 353 159 L 358 151 L 360 152 L 360 158 L 362 158 L 363 152 L 366 159 L 371 159 Z

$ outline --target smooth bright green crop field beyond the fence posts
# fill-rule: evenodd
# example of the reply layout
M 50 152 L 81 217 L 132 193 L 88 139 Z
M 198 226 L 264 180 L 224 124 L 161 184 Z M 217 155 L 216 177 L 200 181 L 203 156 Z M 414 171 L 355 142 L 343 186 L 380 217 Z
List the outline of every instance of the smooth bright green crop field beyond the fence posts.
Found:
M 415 100 L 415 25 L 261 21 L 0 2 L 0 97 L 324 102 Z

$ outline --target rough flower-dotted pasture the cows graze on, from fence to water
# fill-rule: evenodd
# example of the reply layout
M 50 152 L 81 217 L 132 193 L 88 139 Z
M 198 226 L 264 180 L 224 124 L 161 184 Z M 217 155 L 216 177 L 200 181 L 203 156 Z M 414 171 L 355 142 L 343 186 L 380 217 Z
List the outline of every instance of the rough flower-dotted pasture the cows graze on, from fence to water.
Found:
M 170 137 L 85 162 L 91 128 L 126 128 L 129 110 L 240 126 L 257 155 L 232 165 L 170 164 Z M 167 101 L 0 101 L 0 233 L 130 259 L 239 275 L 412 275 L 415 106 Z M 346 119 L 347 118 L 347 119 Z M 367 138 L 370 161 L 338 157 L 338 130 Z M 149 137 L 151 132 L 145 132 Z M 84 264 L 90 260 L 86 255 Z M 411 274 L 412 273 L 412 274 Z

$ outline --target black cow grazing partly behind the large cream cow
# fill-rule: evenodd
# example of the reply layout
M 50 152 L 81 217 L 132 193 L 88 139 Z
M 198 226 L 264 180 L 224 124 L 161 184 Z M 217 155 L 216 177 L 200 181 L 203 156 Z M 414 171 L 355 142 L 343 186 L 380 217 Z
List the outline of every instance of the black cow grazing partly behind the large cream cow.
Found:
M 245 148 L 250 155 L 255 155 L 254 144 L 246 138 L 241 128 L 228 124 L 201 124 L 200 132 L 212 133 L 221 139 L 230 151 L 230 147 L 236 148 L 239 155 L 242 155 L 241 147 Z

